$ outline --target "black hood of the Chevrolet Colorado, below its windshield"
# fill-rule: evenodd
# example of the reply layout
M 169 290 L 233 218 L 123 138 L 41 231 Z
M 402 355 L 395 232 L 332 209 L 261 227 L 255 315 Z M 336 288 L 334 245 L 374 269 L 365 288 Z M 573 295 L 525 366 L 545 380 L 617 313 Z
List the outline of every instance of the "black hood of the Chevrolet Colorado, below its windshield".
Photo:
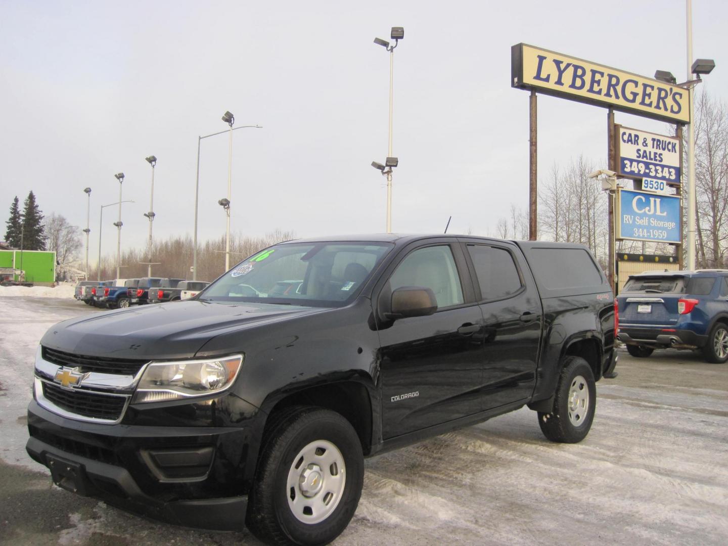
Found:
M 41 345 L 96 357 L 189 358 L 223 331 L 323 312 L 320 307 L 174 301 L 65 320 Z

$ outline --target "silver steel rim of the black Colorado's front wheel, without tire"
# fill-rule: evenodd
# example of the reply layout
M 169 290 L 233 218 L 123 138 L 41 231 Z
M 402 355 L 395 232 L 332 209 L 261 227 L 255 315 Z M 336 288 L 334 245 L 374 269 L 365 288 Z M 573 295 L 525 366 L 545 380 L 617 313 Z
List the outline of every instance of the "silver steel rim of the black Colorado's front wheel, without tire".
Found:
M 286 482 L 288 506 L 298 521 L 319 523 L 336 510 L 344 493 L 344 470 L 344 456 L 327 440 L 298 452 Z

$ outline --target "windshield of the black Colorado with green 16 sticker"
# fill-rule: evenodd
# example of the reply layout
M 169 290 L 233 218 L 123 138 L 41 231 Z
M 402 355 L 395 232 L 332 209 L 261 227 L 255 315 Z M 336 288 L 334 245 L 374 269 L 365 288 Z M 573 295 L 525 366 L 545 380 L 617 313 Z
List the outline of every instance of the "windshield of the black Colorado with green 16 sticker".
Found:
M 371 242 L 309 242 L 266 248 L 209 285 L 199 299 L 345 305 L 359 293 L 392 246 Z

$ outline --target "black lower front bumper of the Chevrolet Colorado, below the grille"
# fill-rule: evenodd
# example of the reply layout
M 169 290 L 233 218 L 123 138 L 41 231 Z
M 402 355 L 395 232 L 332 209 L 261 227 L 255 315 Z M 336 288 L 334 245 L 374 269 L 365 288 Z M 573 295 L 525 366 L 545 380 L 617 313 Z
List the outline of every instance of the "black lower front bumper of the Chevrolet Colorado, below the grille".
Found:
M 245 526 L 246 428 L 90 424 L 28 406 L 25 446 L 58 486 L 175 525 Z

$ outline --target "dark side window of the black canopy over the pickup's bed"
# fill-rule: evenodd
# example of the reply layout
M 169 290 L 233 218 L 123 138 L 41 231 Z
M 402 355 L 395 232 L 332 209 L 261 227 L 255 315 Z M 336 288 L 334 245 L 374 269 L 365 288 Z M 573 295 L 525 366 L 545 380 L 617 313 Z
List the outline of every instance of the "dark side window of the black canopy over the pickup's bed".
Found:
M 602 284 L 596 264 L 583 248 L 534 248 L 529 261 L 539 285 L 549 290 Z

